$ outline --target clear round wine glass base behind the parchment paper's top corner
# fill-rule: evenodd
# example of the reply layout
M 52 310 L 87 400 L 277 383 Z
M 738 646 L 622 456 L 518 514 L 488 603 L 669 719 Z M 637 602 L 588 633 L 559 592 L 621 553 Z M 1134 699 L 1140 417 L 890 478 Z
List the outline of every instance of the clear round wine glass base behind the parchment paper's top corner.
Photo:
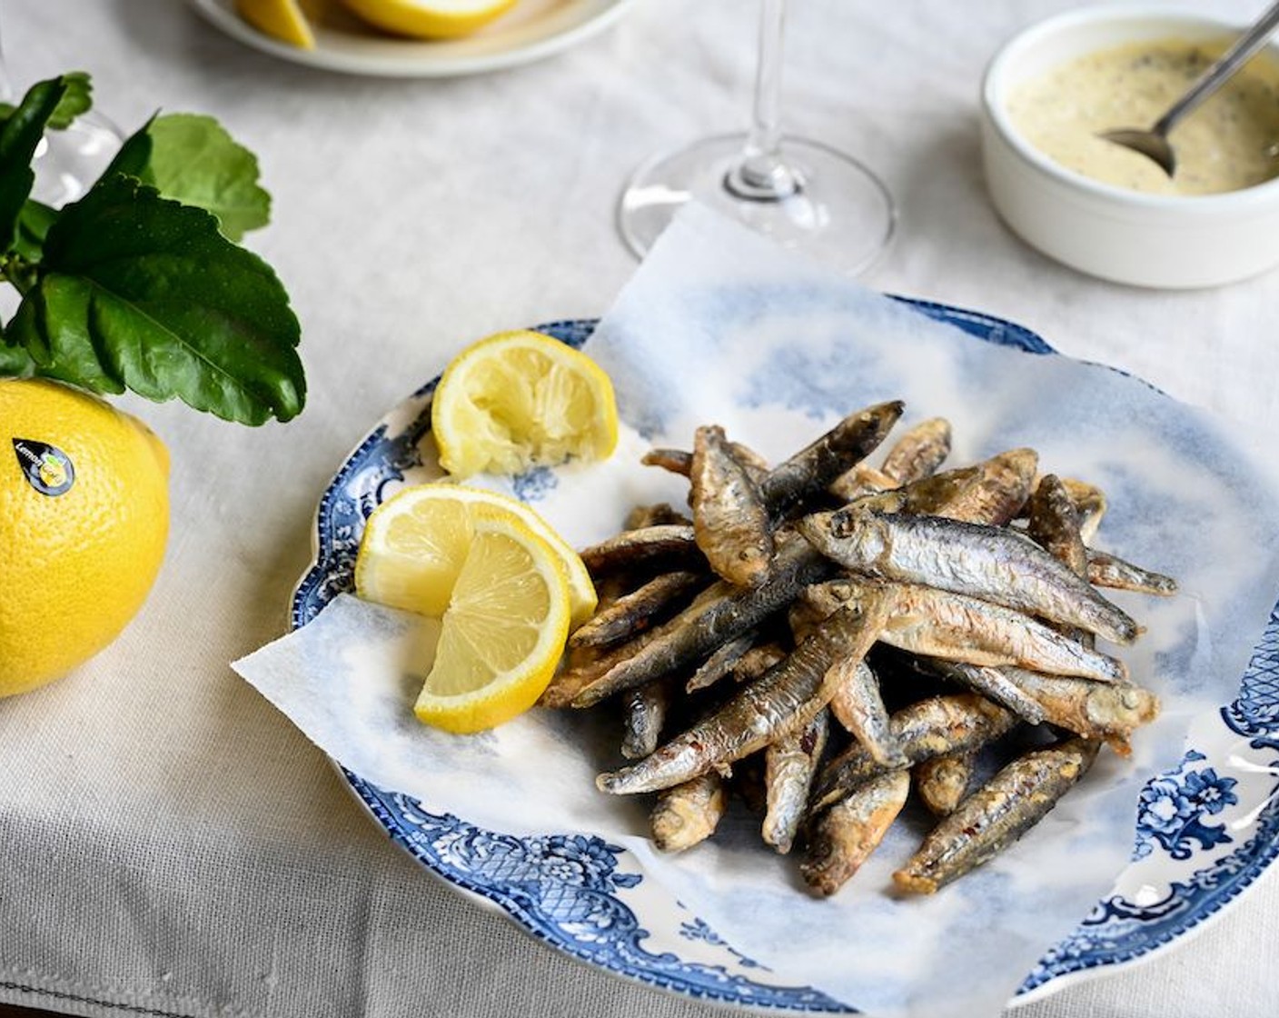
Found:
M 689 201 L 851 275 L 868 269 L 888 246 L 897 209 L 888 188 L 856 159 L 821 142 L 787 137 L 781 155 L 798 188 L 780 197 L 747 196 L 730 186 L 744 147 L 746 134 L 724 134 L 642 164 L 618 207 L 627 246 L 643 256 Z

